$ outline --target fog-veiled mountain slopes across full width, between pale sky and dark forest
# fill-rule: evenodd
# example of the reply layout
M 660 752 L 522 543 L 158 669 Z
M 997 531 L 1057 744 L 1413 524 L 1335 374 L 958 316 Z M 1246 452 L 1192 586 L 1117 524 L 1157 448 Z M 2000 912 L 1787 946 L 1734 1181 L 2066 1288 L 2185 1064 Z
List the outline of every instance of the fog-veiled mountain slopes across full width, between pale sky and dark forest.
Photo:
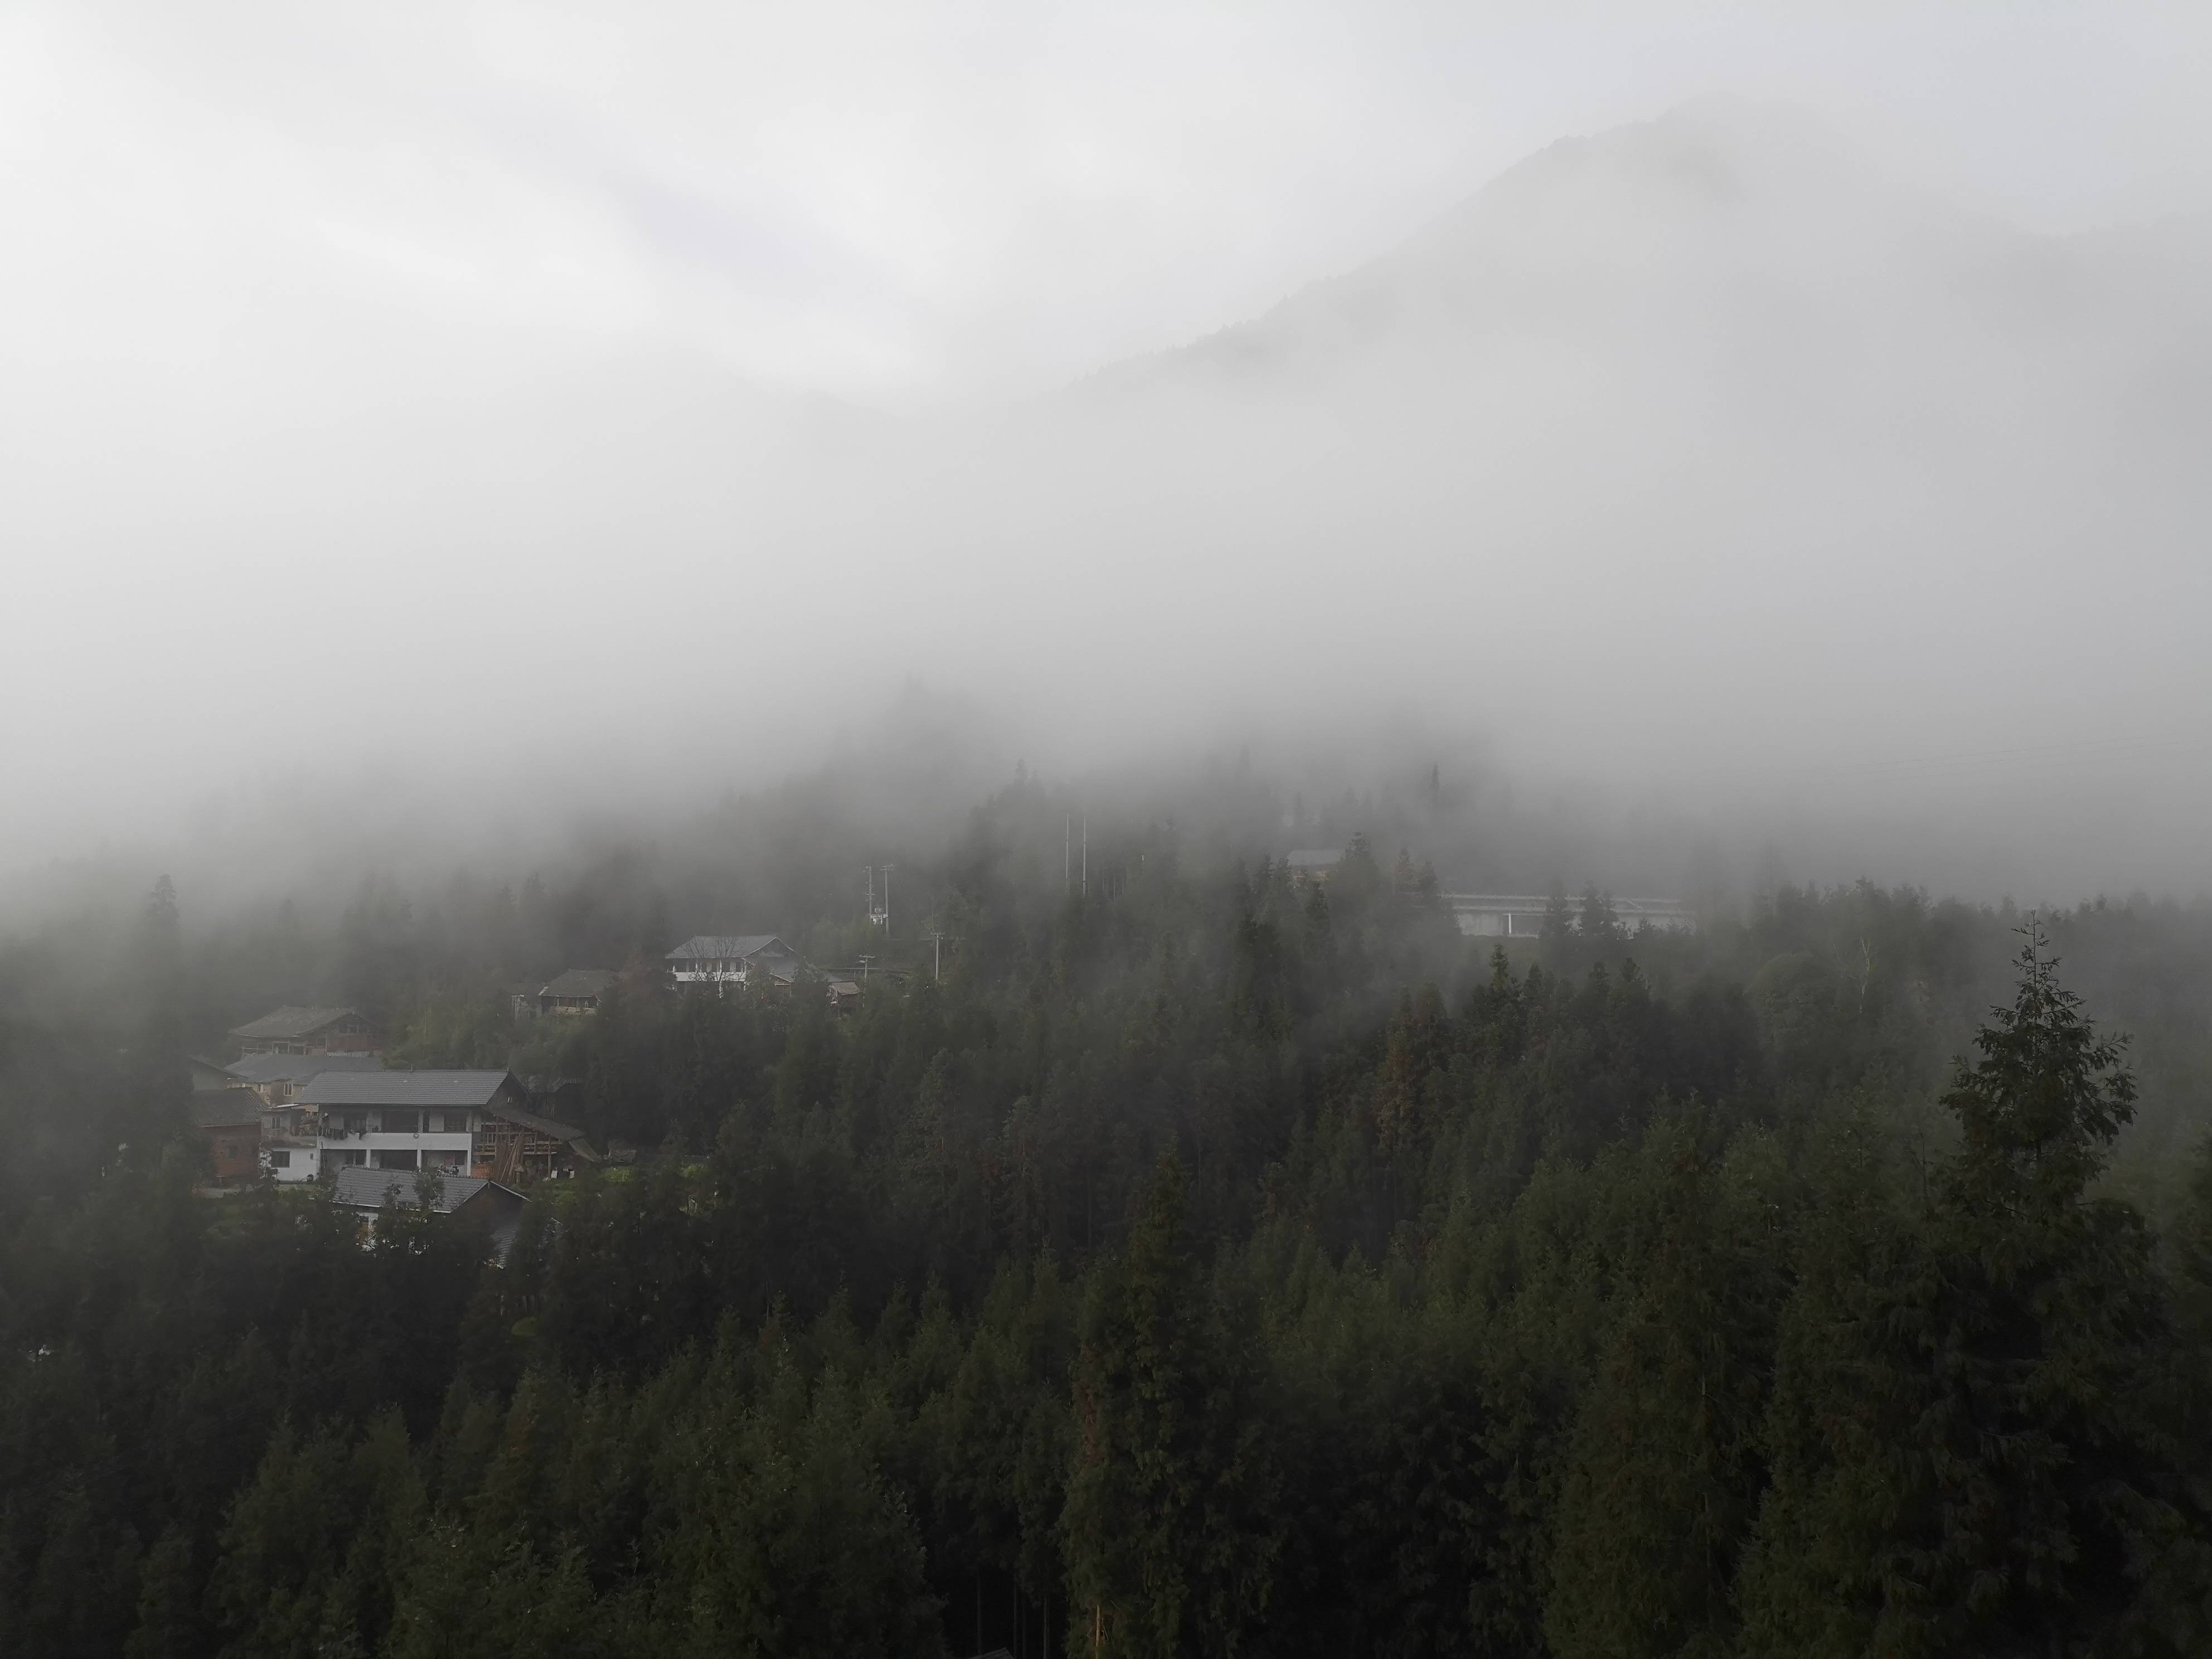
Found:
M 2028 234 L 1705 102 L 980 416 L 389 319 L 325 341 L 314 400 L 257 403 L 252 354 L 88 385 L 62 414 L 137 489 L 35 445 L 0 482 L 18 597 L 97 611 L 128 695 L 77 695 L 66 630 L 0 661 L 40 734 L 0 856 L 161 834 L 164 799 L 436 832 L 460 779 L 529 823 L 661 812 L 920 675 L 1062 774 L 1491 739 L 1522 801 L 1772 827 L 1801 872 L 2208 885 L 2208 246 Z M 347 354 L 396 369 L 376 398 Z M 208 593 L 221 641 L 173 626 Z

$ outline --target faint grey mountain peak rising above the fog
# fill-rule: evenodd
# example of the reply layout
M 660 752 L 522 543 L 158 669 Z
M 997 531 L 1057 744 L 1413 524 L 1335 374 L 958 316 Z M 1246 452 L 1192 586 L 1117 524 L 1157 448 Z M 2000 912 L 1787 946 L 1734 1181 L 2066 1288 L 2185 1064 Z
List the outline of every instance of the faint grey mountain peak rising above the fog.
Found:
M 2119 296 L 2110 261 L 2086 252 L 1882 177 L 1792 111 L 1708 100 L 1562 139 L 1380 259 L 1104 380 L 1265 383 L 1531 341 L 1823 367 L 1944 343 L 2064 347 Z

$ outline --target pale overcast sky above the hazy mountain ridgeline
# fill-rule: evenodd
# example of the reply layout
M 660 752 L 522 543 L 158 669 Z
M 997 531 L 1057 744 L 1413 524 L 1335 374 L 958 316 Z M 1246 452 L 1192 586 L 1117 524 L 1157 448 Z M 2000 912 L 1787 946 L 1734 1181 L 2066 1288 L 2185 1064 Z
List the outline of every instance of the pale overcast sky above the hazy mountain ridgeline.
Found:
M 1367 259 L 1566 133 L 1818 108 L 2037 226 L 2212 206 L 2201 4 L 9 4 L 0 349 L 272 294 L 1031 389 Z

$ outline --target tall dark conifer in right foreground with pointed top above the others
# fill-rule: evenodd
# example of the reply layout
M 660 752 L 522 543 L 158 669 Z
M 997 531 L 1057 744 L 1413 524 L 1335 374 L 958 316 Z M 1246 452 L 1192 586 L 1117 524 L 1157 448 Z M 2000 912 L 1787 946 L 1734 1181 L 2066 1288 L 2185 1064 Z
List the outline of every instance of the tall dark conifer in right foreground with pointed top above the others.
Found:
M 2020 984 L 1958 1062 L 1960 1148 L 1918 1225 L 1854 1183 L 1807 1234 L 1774 1486 L 1743 1582 L 1761 1652 L 2192 1652 L 2201 1537 L 2157 1411 L 2150 1237 L 2088 1197 L 2128 1121 L 2119 1046 L 2022 929 Z

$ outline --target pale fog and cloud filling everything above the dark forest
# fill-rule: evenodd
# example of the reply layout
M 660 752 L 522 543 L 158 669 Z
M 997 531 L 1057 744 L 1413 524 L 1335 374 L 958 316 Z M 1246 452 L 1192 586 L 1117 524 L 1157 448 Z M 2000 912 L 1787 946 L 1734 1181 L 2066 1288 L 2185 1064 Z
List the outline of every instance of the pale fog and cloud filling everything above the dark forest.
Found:
M 2208 66 L 2161 7 L 15 9 L 0 883 L 1022 761 L 1436 765 L 1573 883 L 2197 894 Z

